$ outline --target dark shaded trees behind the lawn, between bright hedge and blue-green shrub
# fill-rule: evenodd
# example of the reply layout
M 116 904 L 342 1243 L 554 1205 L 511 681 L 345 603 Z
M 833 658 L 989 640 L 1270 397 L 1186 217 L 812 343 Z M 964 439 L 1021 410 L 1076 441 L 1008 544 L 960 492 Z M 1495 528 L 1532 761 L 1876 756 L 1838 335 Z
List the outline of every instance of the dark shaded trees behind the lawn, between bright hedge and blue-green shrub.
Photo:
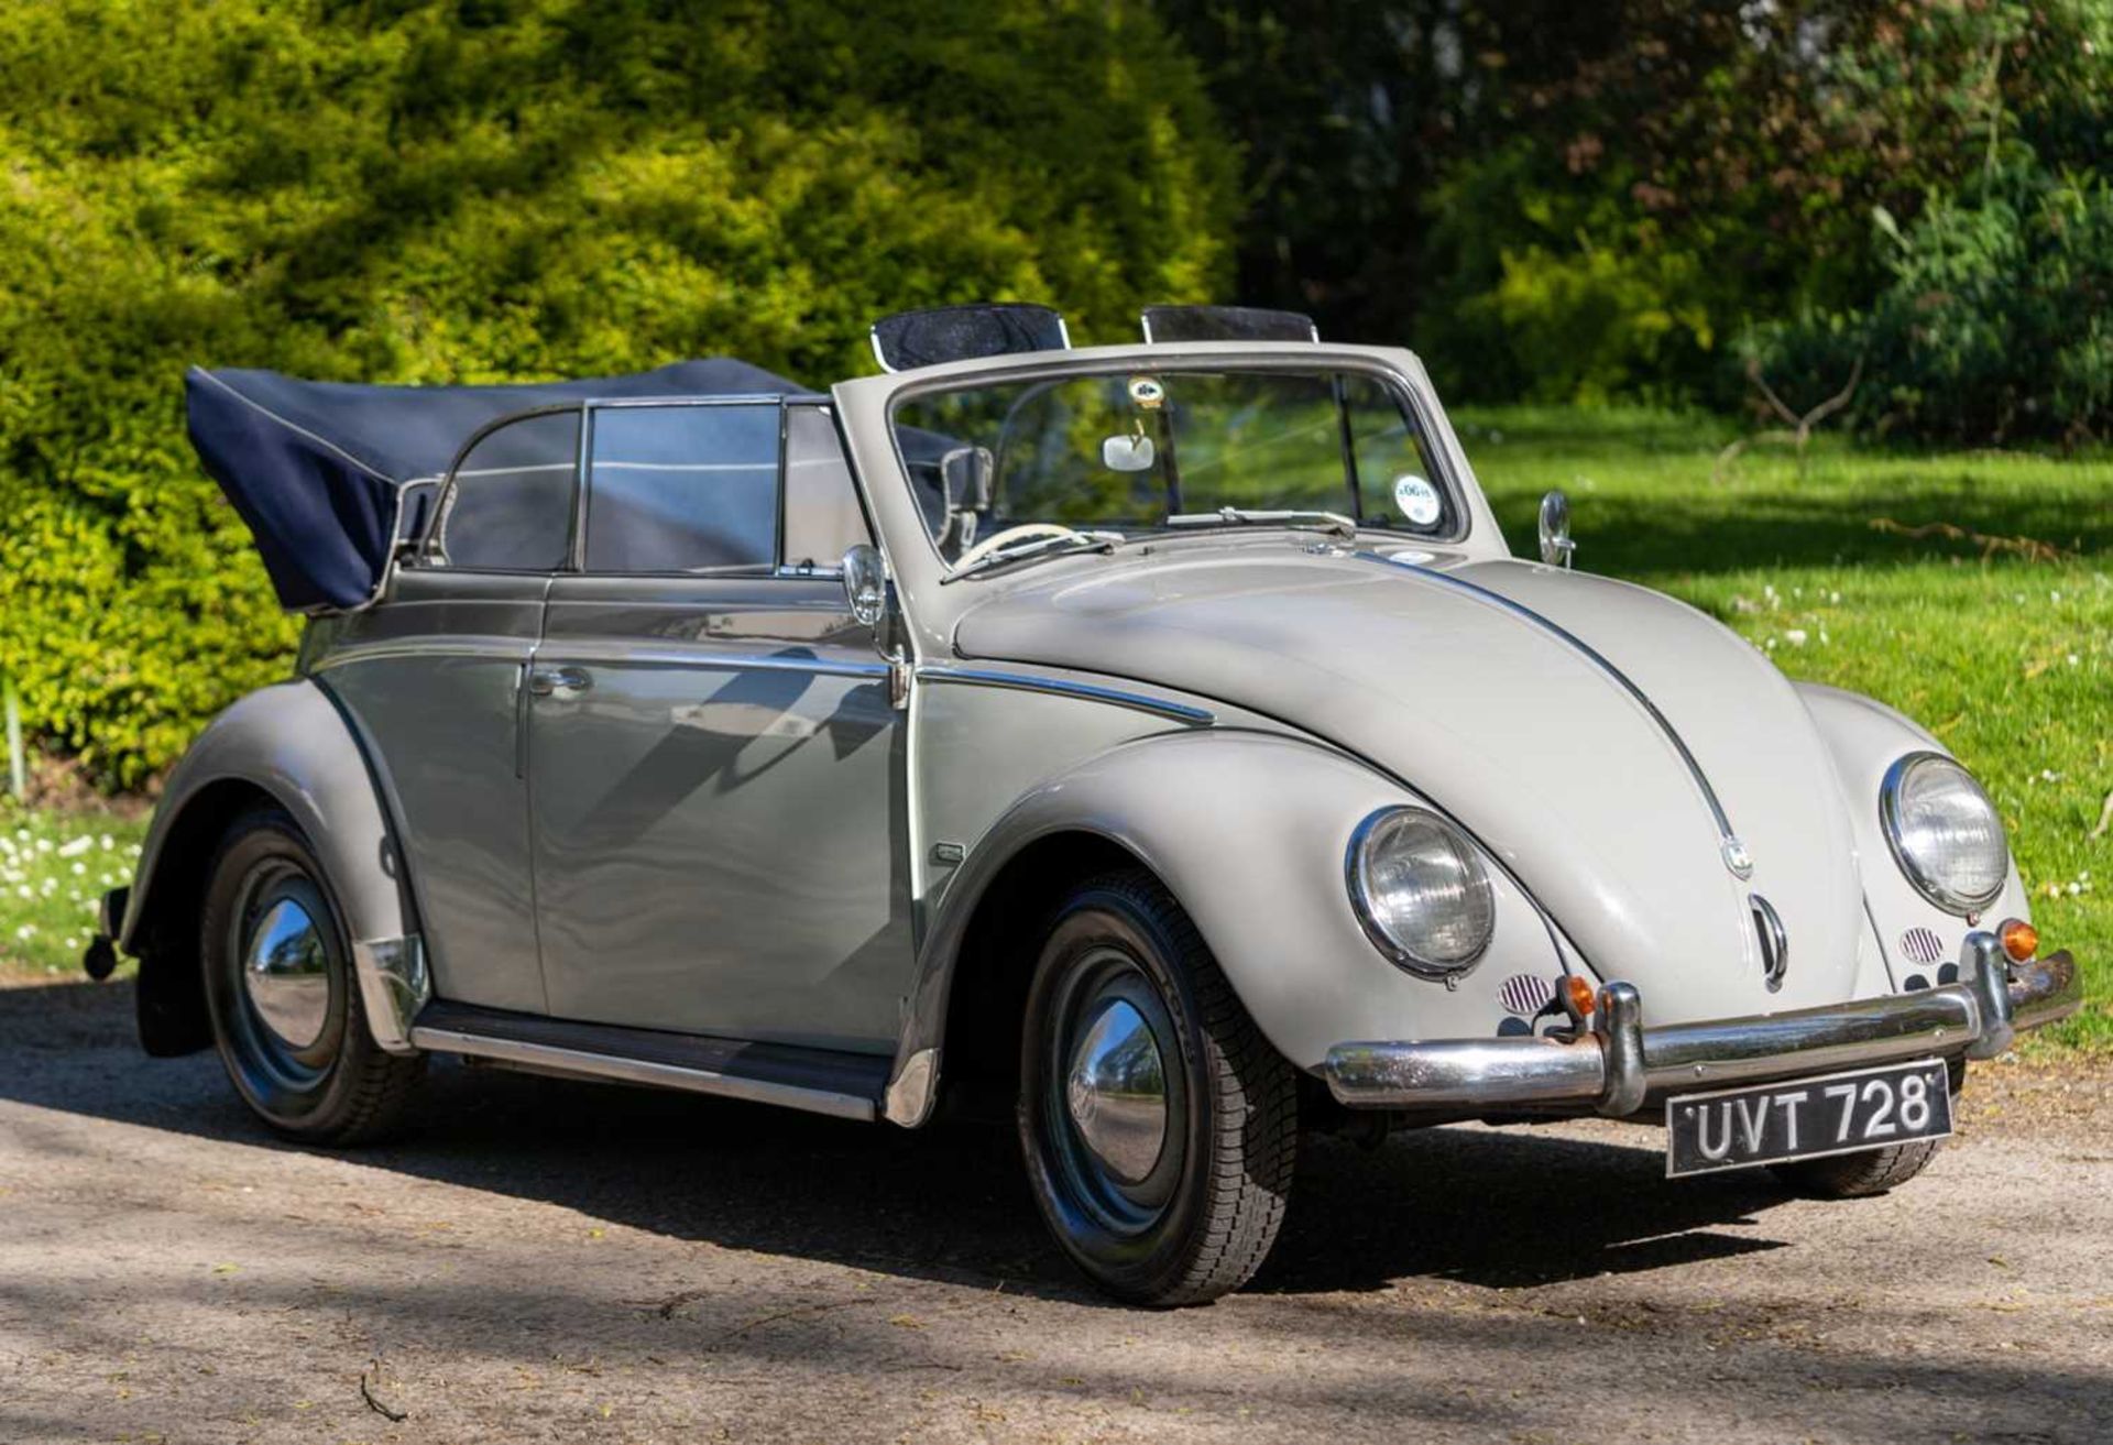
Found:
M 2113 154 L 2107 0 L 1168 13 L 1247 146 L 1247 289 L 1416 344 L 1456 395 L 1728 401 L 1750 327 L 1889 285 L 1876 209 Z

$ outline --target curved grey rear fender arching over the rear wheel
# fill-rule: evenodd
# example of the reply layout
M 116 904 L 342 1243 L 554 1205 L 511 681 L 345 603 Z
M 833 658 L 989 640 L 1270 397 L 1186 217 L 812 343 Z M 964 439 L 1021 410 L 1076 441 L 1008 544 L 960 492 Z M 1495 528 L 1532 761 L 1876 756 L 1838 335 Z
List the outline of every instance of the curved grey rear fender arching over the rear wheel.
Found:
M 410 1050 L 429 995 L 401 853 L 366 754 L 313 680 L 249 693 L 207 725 L 169 775 L 125 906 L 118 946 L 139 957 L 142 1037 L 150 1052 L 203 1048 L 199 908 L 226 826 L 260 801 L 283 807 L 323 864 L 353 938 L 376 1044 Z M 158 1046 L 156 1046 L 158 1044 Z

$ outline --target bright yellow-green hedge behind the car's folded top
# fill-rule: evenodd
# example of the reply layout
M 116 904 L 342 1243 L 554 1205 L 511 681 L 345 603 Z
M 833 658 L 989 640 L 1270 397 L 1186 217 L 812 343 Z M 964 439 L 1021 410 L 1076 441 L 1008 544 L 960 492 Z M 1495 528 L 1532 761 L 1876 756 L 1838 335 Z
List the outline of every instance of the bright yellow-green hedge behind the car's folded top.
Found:
M 0 670 L 133 786 L 296 627 L 182 431 L 186 363 L 469 382 L 875 315 L 1219 289 L 1236 161 L 1141 6 L 0 6 Z

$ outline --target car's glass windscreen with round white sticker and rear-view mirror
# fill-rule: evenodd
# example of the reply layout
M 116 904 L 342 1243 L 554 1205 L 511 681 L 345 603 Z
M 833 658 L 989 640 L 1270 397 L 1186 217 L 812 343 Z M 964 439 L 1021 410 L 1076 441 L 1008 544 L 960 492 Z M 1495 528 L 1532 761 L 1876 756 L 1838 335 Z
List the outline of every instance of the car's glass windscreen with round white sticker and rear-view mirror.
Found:
M 913 395 L 894 427 L 949 562 L 1014 526 L 1133 534 L 1223 507 L 1327 511 L 1416 537 L 1458 528 L 1414 414 L 1363 372 L 1008 380 Z

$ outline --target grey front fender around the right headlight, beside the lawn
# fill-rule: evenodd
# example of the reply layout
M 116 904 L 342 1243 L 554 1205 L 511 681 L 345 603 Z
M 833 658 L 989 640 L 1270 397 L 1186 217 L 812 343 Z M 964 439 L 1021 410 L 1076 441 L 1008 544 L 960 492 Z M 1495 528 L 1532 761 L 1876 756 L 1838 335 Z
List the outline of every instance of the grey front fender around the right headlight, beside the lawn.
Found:
M 1807 712 L 1819 725 L 1834 758 L 1834 773 L 1849 805 L 1855 828 L 1857 866 L 1864 875 L 1864 904 L 1885 953 L 1893 989 L 1925 989 L 1957 978 L 1959 949 L 1965 944 L 1967 921 L 1944 913 L 1908 883 L 1893 862 L 1878 822 L 1878 784 L 1885 771 L 1906 752 L 1950 750 L 1933 733 L 1885 703 L 1821 682 L 1798 682 Z M 2026 919 L 2031 904 L 2012 864 L 2003 896 L 1990 904 L 1986 919 Z M 1990 923 L 1993 927 L 1993 923 Z M 1872 993 L 1874 989 L 1866 989 Z

